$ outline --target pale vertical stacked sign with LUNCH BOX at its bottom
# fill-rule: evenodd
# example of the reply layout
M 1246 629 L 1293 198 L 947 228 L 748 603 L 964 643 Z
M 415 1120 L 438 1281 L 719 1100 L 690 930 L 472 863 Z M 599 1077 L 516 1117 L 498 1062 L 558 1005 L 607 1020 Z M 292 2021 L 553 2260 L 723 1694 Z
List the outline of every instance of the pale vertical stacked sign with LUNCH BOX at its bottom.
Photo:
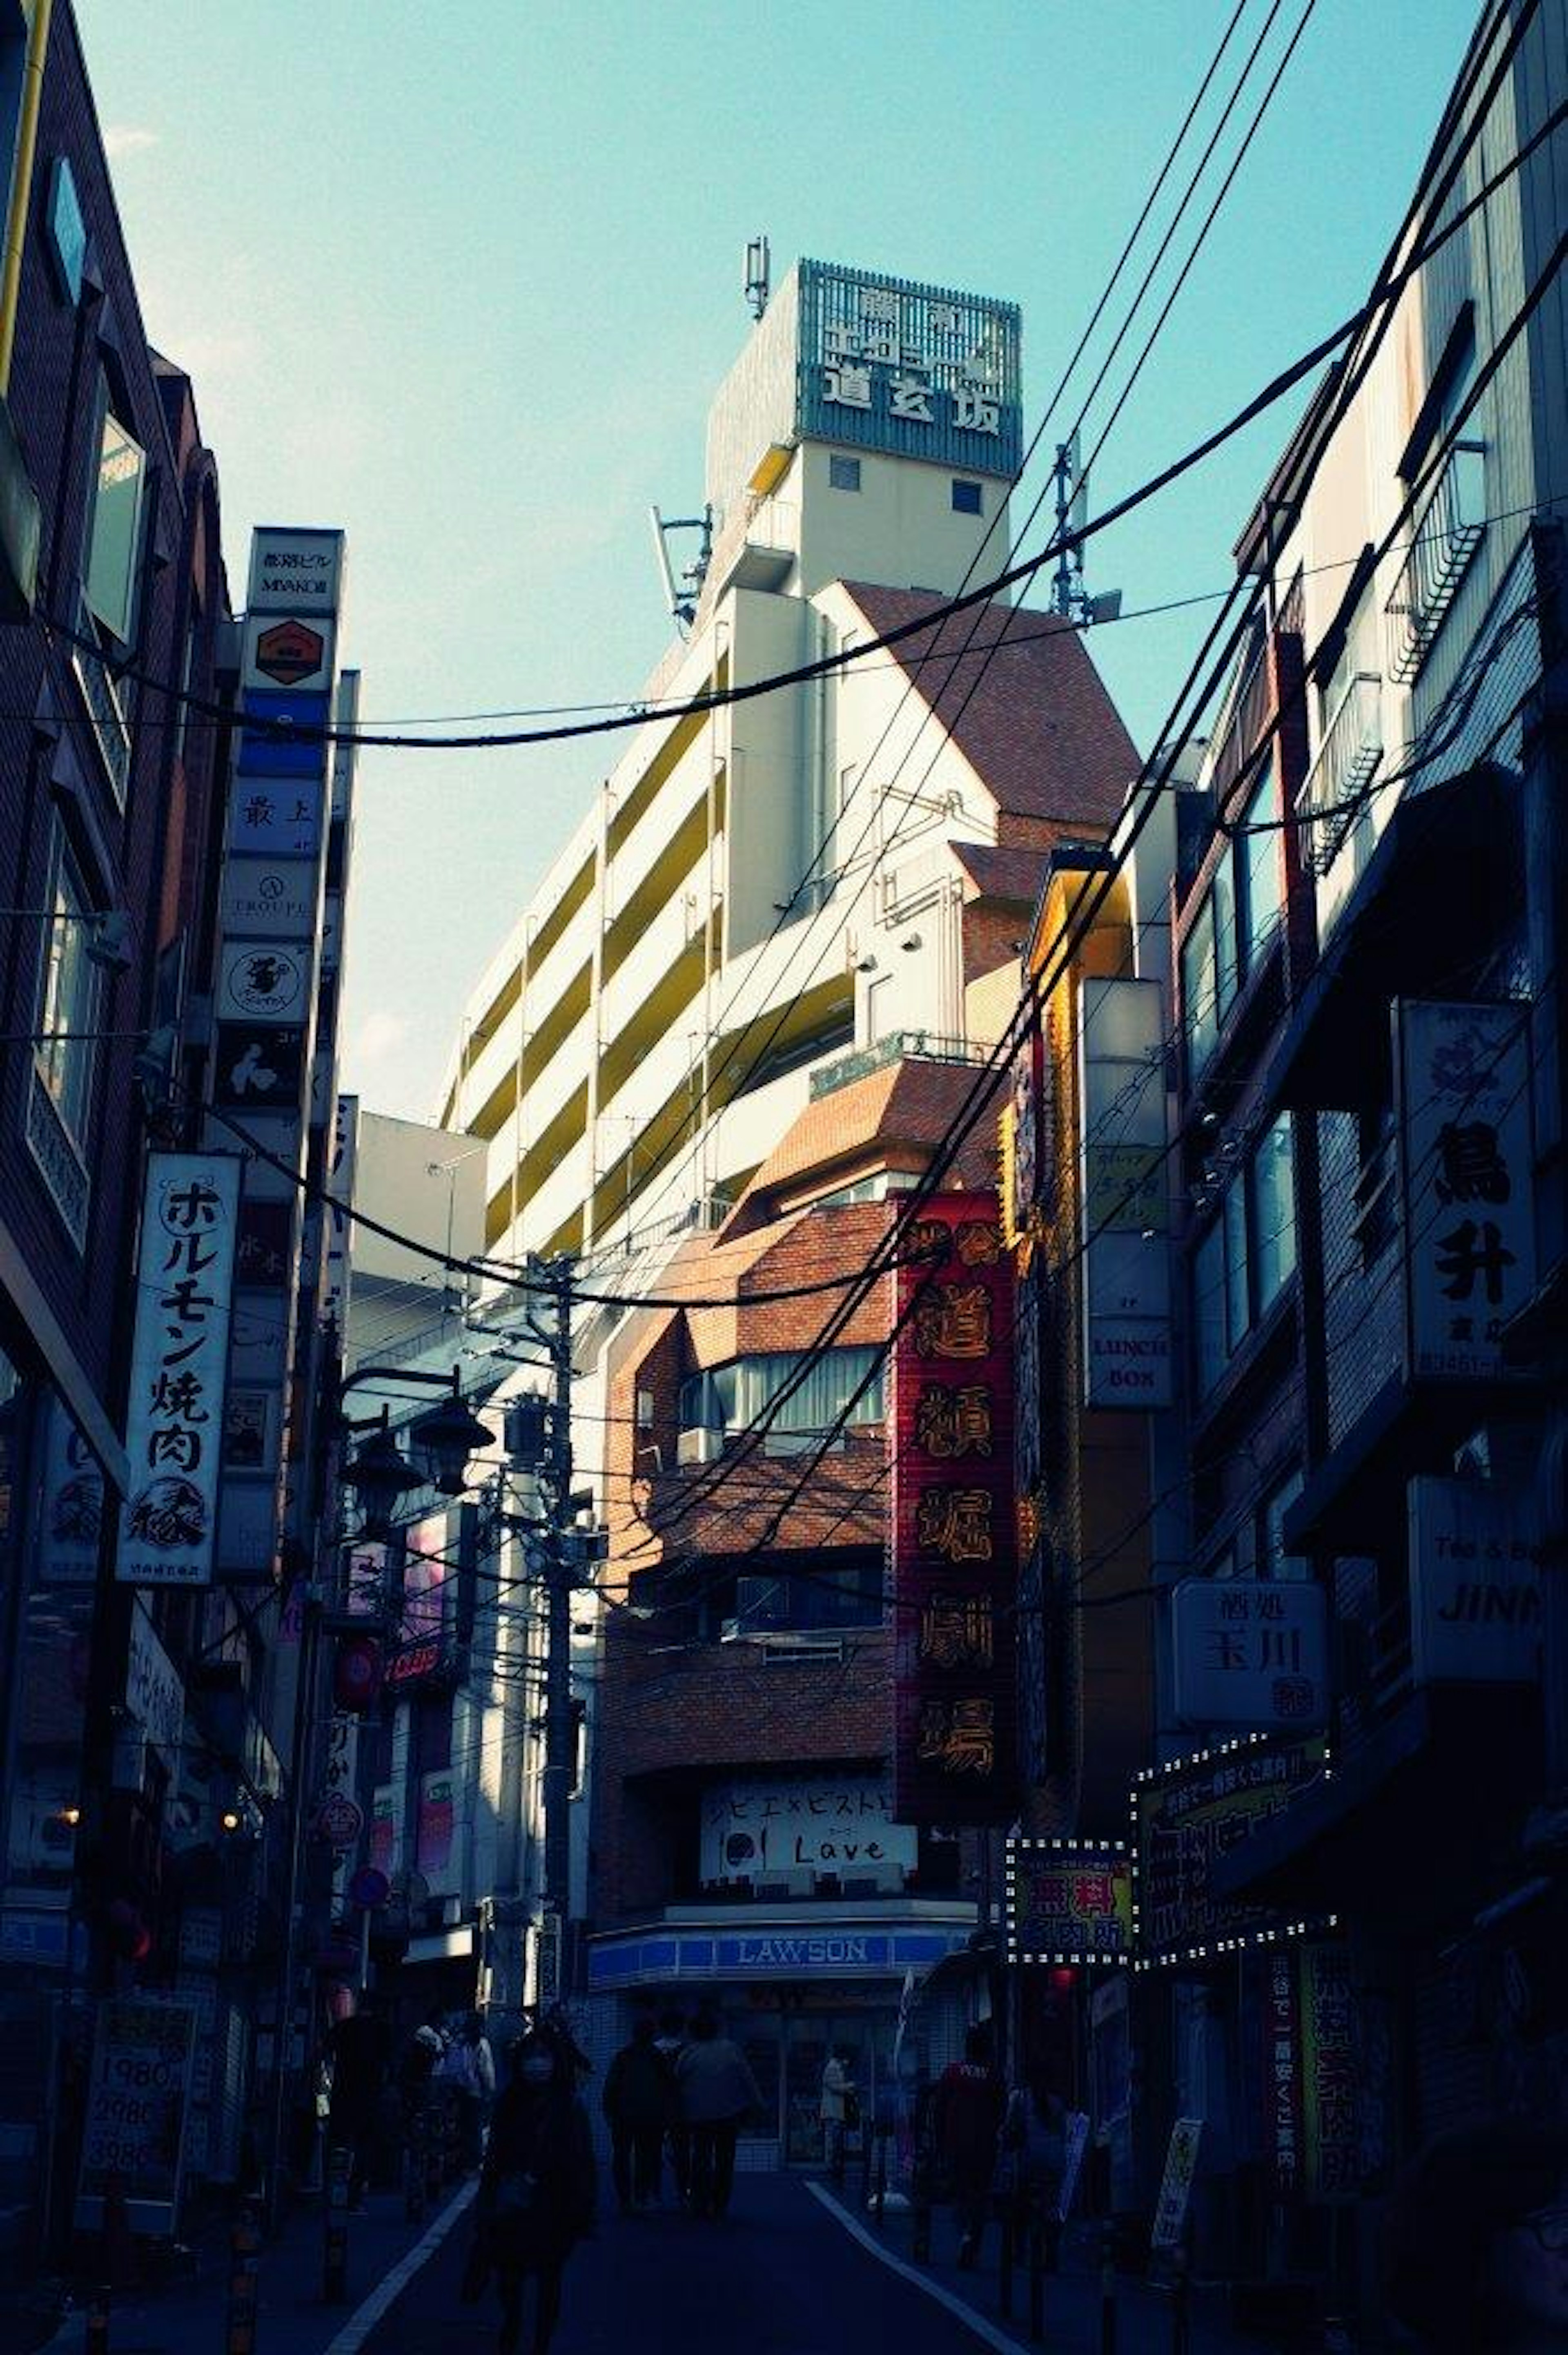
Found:
M 1165 1175 L 1165 996 L 1158 982 L 1078 982 L 1083 1404 L 1172 1397 Z

